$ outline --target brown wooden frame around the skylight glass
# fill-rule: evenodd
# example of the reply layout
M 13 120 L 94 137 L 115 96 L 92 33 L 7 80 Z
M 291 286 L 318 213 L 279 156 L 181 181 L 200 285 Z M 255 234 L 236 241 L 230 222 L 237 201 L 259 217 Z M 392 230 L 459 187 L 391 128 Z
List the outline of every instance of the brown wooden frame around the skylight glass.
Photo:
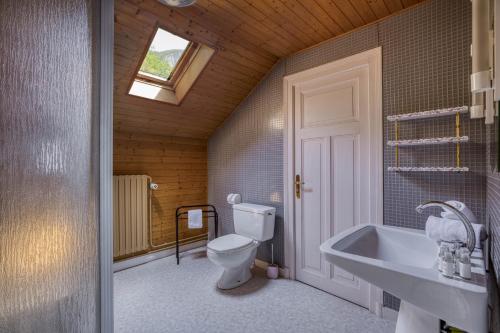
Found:
M 179 58 L 179 60 L 175 64 L 174 68 L 172 69 L 172 72 L 170 73 L 168 79 L 166 79 L 166 80 L 157 79 L 154 77 L 153 74 L 149 74 L 149 73 L 142 74 L 141 73 L 142 64 L 144 63 L 144 60 L 146 59 L 146 56 L 149 52 L 149 49 L 151 48 L 151 44 L 153 43 L 153 40 L 156 37 L 156 34 L 158 33 L 159 29 L 162 29 L 162 30 L 164 30 L 172 35 L 175 35 L 175 36 L 182 38 L 182 39 L 189 42 L 188 45 L 186 46 L 186 48 L 184 49 L 184 51 L 182 52 L 181 57 Z M 135 72 L 136 74 L 135 74 L 135 77 L 132 80 L 132 82 L 135 80 L 140 80 L 140 81 L 145 81 L 147 83 L 159 85 L 163 88 L 173 89 L 176 85 L 177 79 L 185 71 L 187 65 L 189 64 L 189 61 L 191 60 L 191 57 L 196 52 L 196 49 L 198 47 L 199 47 L 198 43 L 190 41 L 188 39 L 185 39 L 179 35 L 176 35 L 176 34 L 170 32 L 168 29 L 163 28 L 161 25 L 157 25 L 153 34 L 151 34 L 151 37 L 148 40 L 148 47 L 146 48 L 145 52 L 143 52 L 143 54 L 141 56 L 141 60 L 139 62 L 139 65 L 137 66 L 137 70 Z

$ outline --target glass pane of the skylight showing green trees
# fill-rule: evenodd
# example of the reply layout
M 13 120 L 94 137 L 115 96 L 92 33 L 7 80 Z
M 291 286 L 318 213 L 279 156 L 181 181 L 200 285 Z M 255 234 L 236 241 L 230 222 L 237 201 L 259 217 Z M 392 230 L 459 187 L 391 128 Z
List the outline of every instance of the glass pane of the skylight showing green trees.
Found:
M 170 80 L 189 45 L 189 41 L 158 28 L 139 74 L 160 81 Z

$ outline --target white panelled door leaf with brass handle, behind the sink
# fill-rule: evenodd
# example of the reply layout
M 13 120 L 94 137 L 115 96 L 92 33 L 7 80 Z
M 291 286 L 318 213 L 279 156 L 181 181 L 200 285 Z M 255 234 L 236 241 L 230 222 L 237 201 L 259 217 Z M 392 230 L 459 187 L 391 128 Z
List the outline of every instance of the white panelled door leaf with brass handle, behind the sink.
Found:
M 322 66 L 325 70 L 303 72 L 293 83 L 293 190 L 295 278 L 369 308 L 368 283 L 329 264 L 319 251 L 333 235 L 377 219 L 378 199 L 371 196 L 382 192 L 374 191 L 373 171 L 382 161 L 372 140 L 381 144 L 382 128 L 375 119 L 381 118 L 380 108 L 371 105 L 377 99 L 370 94 L 378 92 L 372 85 L 381 83 L 379 68 L 372 68 L 377 63 L 365 62 L 343 59 Z

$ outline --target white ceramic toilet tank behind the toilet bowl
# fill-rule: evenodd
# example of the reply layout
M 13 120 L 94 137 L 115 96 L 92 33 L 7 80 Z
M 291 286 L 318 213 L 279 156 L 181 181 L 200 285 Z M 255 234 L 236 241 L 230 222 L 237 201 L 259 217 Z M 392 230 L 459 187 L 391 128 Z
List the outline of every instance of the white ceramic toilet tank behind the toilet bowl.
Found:
M 241 203 L 233 205 L 236 234 L 263 242 L 274 236 L 276 208 Z

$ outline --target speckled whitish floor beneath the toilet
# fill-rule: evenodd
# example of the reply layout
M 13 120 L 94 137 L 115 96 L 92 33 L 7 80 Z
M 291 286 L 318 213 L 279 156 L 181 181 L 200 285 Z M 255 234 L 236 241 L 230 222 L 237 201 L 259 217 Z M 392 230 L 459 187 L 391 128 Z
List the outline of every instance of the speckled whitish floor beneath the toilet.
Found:
M 204 250 L 115 273 L 115 332 L 394 332 L 395 323 L 300 282 L 262 272 L 220 291 Z

